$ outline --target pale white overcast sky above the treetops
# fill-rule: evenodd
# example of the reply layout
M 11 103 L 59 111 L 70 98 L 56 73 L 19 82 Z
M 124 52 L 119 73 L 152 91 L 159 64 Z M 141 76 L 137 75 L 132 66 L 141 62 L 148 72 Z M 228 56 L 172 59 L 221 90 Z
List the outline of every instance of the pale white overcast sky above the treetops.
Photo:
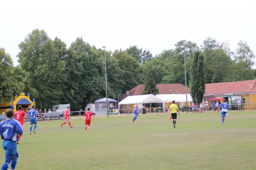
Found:
M 81 1 L 81 2 L 80 2 Z M 5 0 L 0 9 L 0 47 L 17 65 L 18 44 L 33 29 L 58 36 L 67 46 L 82 36 L 97 48 L 137 45 L 155 55 L 186 39 L 246 41 L 256 55 L 253 0 Z M 254 60 L 256 62 L 256 59 Z M 256 66 L 253 66 L 256 68 Z

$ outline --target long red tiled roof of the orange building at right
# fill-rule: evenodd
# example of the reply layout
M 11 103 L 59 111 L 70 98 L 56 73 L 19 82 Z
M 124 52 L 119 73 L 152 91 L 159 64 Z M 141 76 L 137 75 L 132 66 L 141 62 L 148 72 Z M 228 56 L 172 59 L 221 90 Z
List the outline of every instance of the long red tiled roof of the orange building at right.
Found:
M 256 92 L 256 80 L 237 81 L 228 83 L 211 83 L 205 85 L 204 95 L 222 95 L 235 93 L 249 93 L 252 84 L 252 92 Z

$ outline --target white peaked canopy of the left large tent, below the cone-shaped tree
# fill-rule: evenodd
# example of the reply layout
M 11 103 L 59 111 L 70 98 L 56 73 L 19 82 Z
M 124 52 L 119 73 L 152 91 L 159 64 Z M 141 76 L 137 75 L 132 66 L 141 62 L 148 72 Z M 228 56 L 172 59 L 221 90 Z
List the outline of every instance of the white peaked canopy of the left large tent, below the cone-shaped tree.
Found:
M 133 95 L 128 96 L 124 100 L 120 101 L 119 104 L 139 104 L 139 103 L 161 103 L 163 102 L 160 98 L 155 95 Z

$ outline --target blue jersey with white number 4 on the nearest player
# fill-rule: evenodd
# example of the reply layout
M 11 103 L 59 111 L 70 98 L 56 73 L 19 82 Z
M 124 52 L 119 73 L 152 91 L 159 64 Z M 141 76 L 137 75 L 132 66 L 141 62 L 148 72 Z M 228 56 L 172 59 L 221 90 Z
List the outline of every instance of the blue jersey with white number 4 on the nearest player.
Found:
M 0 123 L 0 133 L 4 141 L 17 141 L 18 135 L 22 135 L 23 130 L 20 122 L 7 118 Z

